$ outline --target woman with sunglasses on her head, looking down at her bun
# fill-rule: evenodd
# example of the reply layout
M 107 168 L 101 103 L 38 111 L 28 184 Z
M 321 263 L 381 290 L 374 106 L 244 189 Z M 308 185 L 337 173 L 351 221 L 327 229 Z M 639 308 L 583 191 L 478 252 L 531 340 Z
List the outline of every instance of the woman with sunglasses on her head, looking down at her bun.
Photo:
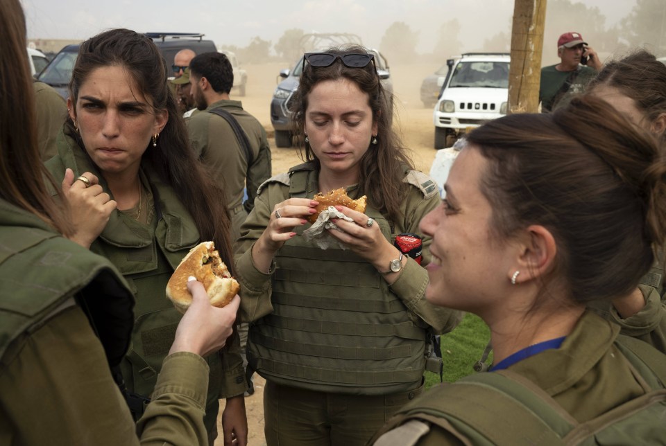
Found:
M 266 378 L 268 445 L 362 445 L 420 393 L 429 331 L 452 330 L 460 314 L 425 301 L 425 269 L 393 244 L 418 232 L 438 193 L 388 125 L 373 56 L 352 46 L 305 61 L 293 112 L 307 162 L 259 188 L 241 229 L 248 362 Z M 368 206 L 339 206 L 353 221 L 331 235 L 347 249 L 323 250 L 300 234 L 314 195 L 336 188 Z

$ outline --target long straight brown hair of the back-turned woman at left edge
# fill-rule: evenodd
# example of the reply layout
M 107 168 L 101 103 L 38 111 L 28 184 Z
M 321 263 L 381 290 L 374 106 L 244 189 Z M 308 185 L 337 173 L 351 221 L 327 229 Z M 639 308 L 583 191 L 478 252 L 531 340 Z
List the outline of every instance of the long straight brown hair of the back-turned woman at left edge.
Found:
M 53 201 L 43 181 L 46 178 L 60 190 L 37 148 L 35 94 L 21 3 L 0 0 L 0 11 L 0 197 L 69 235 L 67 207 Z

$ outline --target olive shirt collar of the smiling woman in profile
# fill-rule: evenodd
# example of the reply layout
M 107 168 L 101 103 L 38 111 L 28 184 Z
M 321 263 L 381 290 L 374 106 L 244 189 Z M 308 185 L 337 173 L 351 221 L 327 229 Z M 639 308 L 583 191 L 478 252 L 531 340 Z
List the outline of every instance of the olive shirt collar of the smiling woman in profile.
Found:
M 535 382 L 549 395 L 569 389 L 606 355 L 620 327 L 586 310 L 562 346 L 545 350 L 509 367 Z M 549 364 L 548 373 L 543 373 Z

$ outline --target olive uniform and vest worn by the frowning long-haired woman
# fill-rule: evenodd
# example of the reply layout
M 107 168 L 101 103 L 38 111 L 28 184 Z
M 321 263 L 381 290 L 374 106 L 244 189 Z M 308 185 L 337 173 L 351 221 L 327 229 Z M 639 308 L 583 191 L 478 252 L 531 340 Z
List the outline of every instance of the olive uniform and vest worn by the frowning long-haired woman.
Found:
M 49 160 L 46 167 L 58 184 L 65 168 L 74 170 L 75 176 L 93 172 L 113 199 L 103 176 L 71 135 L 62 132 L 58 135 L 58 156 Z M 144 190 L 150 192 L 150 206 L 146 206 L 150 212 L 148 225 L 114 211 L 90 250 L 111 260 L 135 294 L 132 347 L 121 363 L 121 370 L 130 392 L 149 397 L 182 317 L 166 297 L 167 282 L 200 238 L 194 220 L 173 188 L 158 177 L 145 159 L 139 177 Z M 240 395 L 247 386 L 237 348 L 205 359 L 210 367 L 205 425 L 208 431 L 215 432 L 219 398 Z

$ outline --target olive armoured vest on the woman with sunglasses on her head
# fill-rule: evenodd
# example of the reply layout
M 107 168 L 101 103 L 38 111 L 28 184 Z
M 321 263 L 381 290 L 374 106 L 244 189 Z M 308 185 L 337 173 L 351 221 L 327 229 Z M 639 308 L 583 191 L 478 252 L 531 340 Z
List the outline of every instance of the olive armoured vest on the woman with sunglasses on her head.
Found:
M 290 174 L 290 197 L 314 196 L 311 165 Z M 393 242 L 386 218 L 370 206 L 366 214 Z M 375 267 L 350 250 L 319 249 L 302 237 L 285 242 L 275 264 L 274 311 L 250 329 L 250 367 L 313 391 L 385 395 L 420 385 L 427 331 L 409 319 Z

